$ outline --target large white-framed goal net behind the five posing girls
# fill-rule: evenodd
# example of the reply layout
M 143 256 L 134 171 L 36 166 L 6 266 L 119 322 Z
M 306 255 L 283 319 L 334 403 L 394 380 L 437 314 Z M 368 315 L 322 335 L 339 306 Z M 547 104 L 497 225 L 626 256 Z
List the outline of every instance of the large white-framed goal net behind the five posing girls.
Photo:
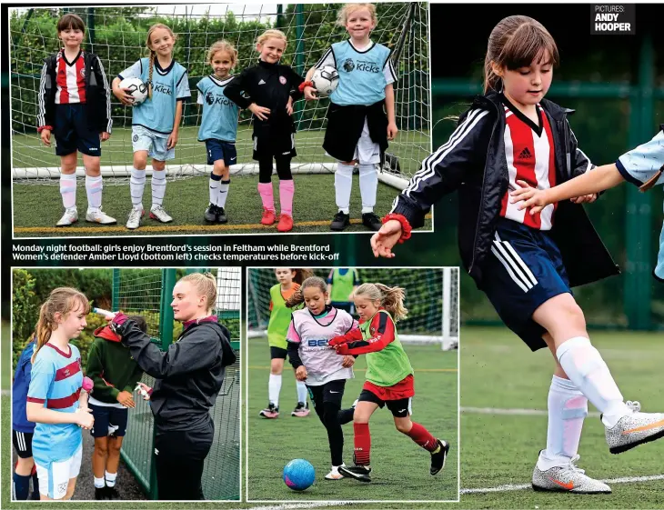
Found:
M 340 4 L 307 5 L 156 5 L 113 7 L 17 8 L 10 11 L 11 109 L 13 178 L 20 183 L 56 183 L 59 158 L 53 147 L 41 144 L 36 133 L 37 92 L 46 55 L 59 45 L 57 19 L 66 12 L 81 15 L 86 22 L 84 48 L 101 58 L 109 82 L 140 57 L 146 56 L 146 33 L 150 25 L 164 23 L 176 34 L 175 58 L 188 71 L 192 90 L 186 103 L 176 146 L 176 159 L 168 162 L 168 178 L 207 175 L 205 145 L 197 142 L 200 110 L 196 105 L 196 83 L 209 75 L 206 53 L 210 45 L 226 39 L 236 46 L 238 62 L 234 74 L 255 65 L 255 41 L 267 28 L 287 34 L 282 62 L 301 75 L 315 65 L 327 48 L 347 38 L 335 24 Z M 379 3 L 374 42 L 392 49 L 397 72 L 396 115 L 399 134 L 390 143 L 386 165 L 380 173 L 388 184 L 404 187 L 430 153 L 428 4 Z M 131 108 L 111 95 L 113 133 L 102 145 L 102 174 L 107 184 L 126 182 L 132 167 Z M 327 125 L 327 99 L 296 103 L 297 157 L 295 173 L 333 172 L 336 163 L 322 149 Z M 237 133 L 238 165 L 233 175 L 257 172 L 252 161 L 251 116 L 240 115 Z M 148 174 L 151 168 L 148 165 Z M 77 169 L 83 175 L 84 169 Z

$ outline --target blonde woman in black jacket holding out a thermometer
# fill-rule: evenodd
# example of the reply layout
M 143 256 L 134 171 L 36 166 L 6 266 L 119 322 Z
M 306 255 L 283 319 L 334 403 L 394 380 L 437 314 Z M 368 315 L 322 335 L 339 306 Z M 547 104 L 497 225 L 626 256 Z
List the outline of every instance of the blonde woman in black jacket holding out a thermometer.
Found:
M 173 288 L 174 316 L 184 325 L 166 352 L 134 321 L 118 313 L 111 325 L 132 357 L 156 378 L 150 395 L 155 415 L 156 479 L 161 500 L 205 499 L 201 476 L 215 425 L 209 414 L 226 366 L 236 361 L 229 332 L 216 322 L 214 275 L 186 275 Z

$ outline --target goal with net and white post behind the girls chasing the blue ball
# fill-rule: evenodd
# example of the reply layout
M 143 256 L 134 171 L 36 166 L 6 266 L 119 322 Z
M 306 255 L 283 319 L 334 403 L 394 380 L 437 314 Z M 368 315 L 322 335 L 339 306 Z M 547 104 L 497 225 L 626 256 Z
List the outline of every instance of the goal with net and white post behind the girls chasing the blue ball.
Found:
M 314 268 L 327 280 L 331 268 Z M 357 268 L 360 283 L 378 282 L 402 287 L 407 319 L 398 323 L 405 343 L 458 346 L 458 267 L 435 269 Z M 269 322 L 269 289 L 277 284 L 274 269 L 249 269 L 247 276 L 247 325 L 249 337 L 266 335 Z M 357 315 L 356 315 L 357 318 Z

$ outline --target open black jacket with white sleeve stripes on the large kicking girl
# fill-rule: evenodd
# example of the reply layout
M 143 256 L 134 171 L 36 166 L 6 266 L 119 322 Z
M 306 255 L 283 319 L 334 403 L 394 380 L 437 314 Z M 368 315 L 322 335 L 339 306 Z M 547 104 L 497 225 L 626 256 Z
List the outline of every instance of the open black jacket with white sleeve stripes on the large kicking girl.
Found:
M 556 179 L 563 183 L 593 165 L 578 149 L 568 124 L 574 110 L 542 100 L 554 140 Z M 500 201 L 508 191 L 505 158 L 505 115 L 495 92 L 478 95 L 461 115 L 457 130 L 445 145 L 428 156 L 422 168 L 397 196 L 392 210 L 406 216 L 413 227 L 424 225 L 424 216 L 443 195 L 458 190 L 458 246 L 463 265 L 482 288 L 482 265 L 500 215 Z M 583 205 L 558 203 L 550 235 L 558 245 L 571 286 L 589 284 L 619 274 Z

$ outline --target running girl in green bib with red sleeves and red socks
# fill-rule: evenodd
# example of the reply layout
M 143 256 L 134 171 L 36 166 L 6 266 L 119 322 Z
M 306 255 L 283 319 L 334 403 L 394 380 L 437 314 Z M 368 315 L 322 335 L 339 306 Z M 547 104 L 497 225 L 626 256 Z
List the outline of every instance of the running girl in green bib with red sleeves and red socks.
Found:
M 359 327 L 328 342 L 337 349 L 337 355 L 367 355 L 367 381 L 353 414 L 355 465 L 342 466 L 339 473 L 360 482 L 371 481 L 369 418 L 378 407 L 387 405 L 397 430 L 431 454 L 430 473 L 437 475 L 445 466 L 449 444 L 410 419 L 411 398 L 415 395 L 413 368 L 395 326 L 397 321 L 407 317 L 404 290 L 363 284 L 357 287 L 353 297 Z

